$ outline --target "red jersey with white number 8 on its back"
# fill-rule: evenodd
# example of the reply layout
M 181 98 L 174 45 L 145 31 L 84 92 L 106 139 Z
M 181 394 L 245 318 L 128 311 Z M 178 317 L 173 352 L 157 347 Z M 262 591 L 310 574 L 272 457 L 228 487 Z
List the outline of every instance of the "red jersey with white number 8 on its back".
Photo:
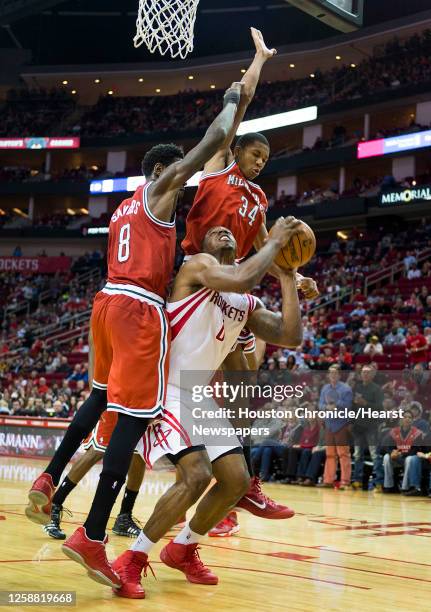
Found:
M 151 213 L 150 184 L 138 187 L 111 217 L 108 282 L 137 285 L 165 299 L 175 261 L 175 220 L 159 221 Z

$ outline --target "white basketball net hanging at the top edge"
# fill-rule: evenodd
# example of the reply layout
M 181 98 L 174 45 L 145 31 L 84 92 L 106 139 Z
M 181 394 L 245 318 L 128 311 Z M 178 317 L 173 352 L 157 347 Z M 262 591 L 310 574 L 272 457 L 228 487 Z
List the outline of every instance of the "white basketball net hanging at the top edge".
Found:
M 151 53 L 159 51 L 184 59 L 193 51 L 193 31 L 199 0 L 139 0 L 135 47 L 145 43 Z

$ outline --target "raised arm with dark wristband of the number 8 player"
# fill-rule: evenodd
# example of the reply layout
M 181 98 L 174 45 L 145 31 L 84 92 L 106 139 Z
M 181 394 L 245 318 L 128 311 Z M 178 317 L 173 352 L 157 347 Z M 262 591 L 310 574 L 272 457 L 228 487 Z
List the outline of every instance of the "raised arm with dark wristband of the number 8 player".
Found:
M 172 196 L 186 181 L 202 168 L 217 151 L 232 128 L 242 85 L 233 83 L 224 95 L 223 110 L 207 129 L 202 140 L 185 157 L 168 166 L 158 177 L 149 192 L 151 211 L 160 219 L 172 212 Z M 168 209 L 171 210 L 168 210 Z

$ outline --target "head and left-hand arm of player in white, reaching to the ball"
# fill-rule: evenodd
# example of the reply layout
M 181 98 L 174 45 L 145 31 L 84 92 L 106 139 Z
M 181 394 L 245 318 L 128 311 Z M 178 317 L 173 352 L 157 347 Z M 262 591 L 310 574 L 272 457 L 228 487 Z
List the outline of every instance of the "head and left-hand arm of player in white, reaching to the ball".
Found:
M 237 266 L 223 265 L 223 256 L 217 258 L 217 255 L 212 254 L 220 253 L 222 248 L 228 251 L 229 242 L 233 241 L 232 259 L 234 259 L 235 242 L 231 232 L 223 227 L 209 230 L 204 241 L 204 252 L 193 256 L 190 262 L 183 266 L 177 277 L 178 285 L 203 286 L 217 291 L 235 293 L 251 291 L 262 279 L 279 250 L 295 233 L 299 223 L 300 221 L 294 217 L 278 219 L 271 228 L 265 246 L 259 253 Z M 218 246 L 219 244 L 222 247 Z M 178 285 L 176 282 L 176 289 L 179 288 Z

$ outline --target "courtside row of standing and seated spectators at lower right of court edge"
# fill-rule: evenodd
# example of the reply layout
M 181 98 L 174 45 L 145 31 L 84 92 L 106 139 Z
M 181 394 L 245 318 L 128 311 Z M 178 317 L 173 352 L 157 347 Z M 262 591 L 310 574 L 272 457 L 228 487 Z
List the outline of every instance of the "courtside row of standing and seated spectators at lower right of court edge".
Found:
M 359 364 L 342 374 L 338 365 L 325 374 L 290 370 L 275 379 L 270 370 L 261 371 L 261 384 L 283 382 L 301 389 L 297 397 L 256 408 L 253 427 L 259 434 L 252 440 L 252 460 L 261 479 L 431 497 L 425 364 L 386 376 L 375 364 Z M 338 416 L 336 408 L 354 416 Z

